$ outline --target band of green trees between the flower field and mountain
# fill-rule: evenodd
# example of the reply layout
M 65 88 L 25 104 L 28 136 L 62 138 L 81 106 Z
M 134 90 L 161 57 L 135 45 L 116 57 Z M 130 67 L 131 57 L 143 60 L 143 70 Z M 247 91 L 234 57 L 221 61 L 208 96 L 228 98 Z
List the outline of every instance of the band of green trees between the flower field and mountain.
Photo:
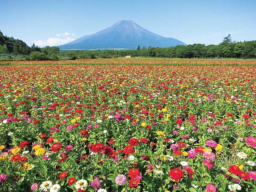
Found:
M 57 46 L 40 48 L 33 44 L 7 37 L 0 31 L 0 54 L 13 54 L 25 60 L 59 60 L 77 58 L 116 58 L 130 55 L 132 57 L 160 58 L 254 58 L 256 57 L 256 40 L 235 42 L 230 34 L 218 45 L 190 44 L 168 48 L 151 47 L 132 50 L 60 50 Z

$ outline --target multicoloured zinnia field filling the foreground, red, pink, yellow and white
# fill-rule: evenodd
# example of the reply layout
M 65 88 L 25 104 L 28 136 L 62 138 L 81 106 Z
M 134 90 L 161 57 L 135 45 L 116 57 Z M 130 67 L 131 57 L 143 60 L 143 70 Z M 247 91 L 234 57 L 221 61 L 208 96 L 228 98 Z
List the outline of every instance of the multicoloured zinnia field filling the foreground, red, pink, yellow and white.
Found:
M 254 66 L 0 70 L 1 192 L 256 191 Z

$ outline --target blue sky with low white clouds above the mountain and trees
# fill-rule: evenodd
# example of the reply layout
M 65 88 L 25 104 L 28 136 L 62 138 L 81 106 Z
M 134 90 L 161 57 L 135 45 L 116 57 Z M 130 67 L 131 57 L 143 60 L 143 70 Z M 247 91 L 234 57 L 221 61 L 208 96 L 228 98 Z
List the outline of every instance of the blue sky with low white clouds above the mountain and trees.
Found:
M 132 20 L 186 44 L 256 40 L 256 0 L 4 0 L 0 30 L 29 46 L 65 44 Z

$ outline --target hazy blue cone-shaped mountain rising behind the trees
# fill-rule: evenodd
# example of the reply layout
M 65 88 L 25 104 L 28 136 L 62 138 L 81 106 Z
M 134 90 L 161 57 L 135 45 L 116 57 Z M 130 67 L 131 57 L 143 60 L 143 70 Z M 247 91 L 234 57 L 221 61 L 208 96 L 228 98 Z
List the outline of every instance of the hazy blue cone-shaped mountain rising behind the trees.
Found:
M 174 38 L 167 38 L 150 32 L 133 21 L 121 20 L 110 28 L 106 28 L 92 35 L 86 35 L 68 44 L 58 46 L 69 49 L 98 49 L 98 48 L 126 48 L 135 49 L 137 46 L 171 47 L 186 45 Z

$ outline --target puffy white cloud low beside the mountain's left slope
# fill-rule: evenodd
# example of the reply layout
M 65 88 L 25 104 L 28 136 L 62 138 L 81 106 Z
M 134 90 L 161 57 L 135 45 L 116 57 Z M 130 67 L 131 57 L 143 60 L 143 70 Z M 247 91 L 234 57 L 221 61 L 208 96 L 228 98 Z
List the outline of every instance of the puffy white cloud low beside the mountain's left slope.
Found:
M 58 38 L 57 38 L 58 37 Z M 48 38 L 47 40 L 36 40 L 34 44 L 40 47 L 44 46 L 58 46 L 68 42 L 74 41 L 75 39 L 70 37 L 69 32 L 56 34 L 55 38 Z

